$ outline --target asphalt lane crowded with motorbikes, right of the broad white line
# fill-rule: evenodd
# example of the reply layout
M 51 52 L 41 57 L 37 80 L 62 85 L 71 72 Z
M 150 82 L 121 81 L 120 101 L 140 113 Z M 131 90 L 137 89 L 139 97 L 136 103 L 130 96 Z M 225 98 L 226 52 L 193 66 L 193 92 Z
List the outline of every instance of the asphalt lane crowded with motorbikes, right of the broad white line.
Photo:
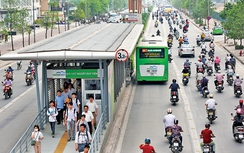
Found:
M 195 30 L 195 31 L 194 31 Z M 192 33 L 196 33 L 198 32 L 198 29 L 194 29 L 194 27 L 192 29 L 190 29 L 190 31 L 192 31 Z M 188 34 L 188 38 L 189 41 L 191 43 L 194 43 L 194 38 L 195 36 L 193 34 Z M 200 48 L 199 48 L 200 50 Z M 223 52 L 219 47 L 215 48 L 215 52 L 216 55 L 220 56 L 220 58 L 224 59 L 226 52 Z M 182 63 L 185 61 L 185 58 L 179 58 L 179 57 L 175 57 L 177 58 L 176 64 L 177 67 L 180 69 L 182 69 Z M 192 60 L 191 58 L 189 58 L 190 60 Z M 192 61 L 193 62 L 193 61 Z M 195 63 L 195 62 L 194 62 Z M 239 64 L 238 64 L 239 65 Z M 224 63 L 222 62 L 221 64 L 222 68 L 224 67 Z M 243 71 L 241 70 L 241 68 L 239 69 L 239 66 L 237 67 L 237 72 L 238 71 Z M 195 70 L 195 66 L 194 64 L 192 65 L 192 74 L 194 76 L 196 70 Z M 222 72 L 224 73 L 224 70 L 222 70 Z M 218 105 L 217 105 L 217 115 L 218 118 L 216 119 L 216 121 L 214 121 L 213 125 L 212 125 L 212 129 L 215 133 L 215 135 L 217 136 L 217 138 L 214 140 L 217 144 L 217 149 L 220 150 L 221 152 L 234 152 L 234 151 L 238 151 L 240 150 L 240 144 L 236 143 L 233 140 L 233 136 L 232 136 L 232 132 L 231 132 L 231 125 L 232 122 L 230 121 L 231 117 L 230 117 L 230 113 L 234 112 L 234 106 L 237 104 L 238 99 L 234 97 L 233 94 L 233 87 L 228 86 L 225 83 L 225 89 L 223 91 L 223 93 L 217 93 L 215 86 L 214 86 L 214 76 L 211 77 L 207 77 L 209 79 L 209 90 L 211 93 L 214 94 L 214 99 L 217 100 Z M 226 80 L 226 77 L 225 77 Z M 181 80 L 180 80 L 181 82 Z M 225 81 L 226 82 L 226 81 Z M 182 86 L 182 83 L 180 83 Z M 192 93 L 188 95 L 189 98 L 189 102 L 191 105 L 191 110 L 194 116 L 194 121 L 196 124 L 196 128 L 198 133 L 200 133 L 200 131 L 202 129 L 204 129 L 204 124 L 209 123 L 207 120 L 207 115 L 206 115 L 206 110 L 205 110 L 205 102 L 207 99 L 202 98 L 202 96 L 199 94 L 199 92 L 197 91 L 196 87 L 195 87 L 195 78 L 191 77 L 188 86 L 184 87 L 185 90 L 187 90 L 187 93 Z M 220 136 L 220 138 L 218 137 Z M 221 138 L 221 136 L 224 136 Z M 225 139 L 226 137 L 228 137 L 229 139 Z M 220 144 L 220 145 L 218 145 Z M 226 148 L 226 146 L 233 146 L 233 147 L 229 147 L 228 149 Z

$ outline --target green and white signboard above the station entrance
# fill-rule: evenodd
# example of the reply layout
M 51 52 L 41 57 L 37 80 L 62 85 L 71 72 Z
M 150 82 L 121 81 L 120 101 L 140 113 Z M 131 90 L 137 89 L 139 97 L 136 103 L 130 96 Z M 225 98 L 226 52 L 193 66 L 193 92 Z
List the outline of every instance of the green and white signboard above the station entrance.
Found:
M 102 74 L 103 75 L 103 74 Z M 67 69 L 67 70 L 47 70 L 47 78 L 98 78 L 99 69 Z

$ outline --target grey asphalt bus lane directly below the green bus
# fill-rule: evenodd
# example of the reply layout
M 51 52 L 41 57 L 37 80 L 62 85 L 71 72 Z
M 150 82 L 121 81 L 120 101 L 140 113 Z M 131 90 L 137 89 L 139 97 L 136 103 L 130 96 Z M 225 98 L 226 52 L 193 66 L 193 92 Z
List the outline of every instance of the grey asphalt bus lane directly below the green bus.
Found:
M 173 69 L 172 65 L 169 65 Z M 138 146 L 144 143 L 145 138 L 150 138 L 157 152 L 170 153 L 169 142 L 164 137 L 163 117 L 167 109 L 172 108 L 173 114 L 179 120 L 184 132 L 183 152 L 193 152 L 189 135 L 188 122 L 185 118 L 184 104 L 180 100 L 176 106 L 170 102 L 169 85 L 175 76 L 175 71 L 170 71 L 169 81 L 166 83 L 144 83 L 137 85 L 130 111 L 127 128 L 124 135 L 121 153 L 139 152 Z M 180 99 L 182 99 L 180 97 Z

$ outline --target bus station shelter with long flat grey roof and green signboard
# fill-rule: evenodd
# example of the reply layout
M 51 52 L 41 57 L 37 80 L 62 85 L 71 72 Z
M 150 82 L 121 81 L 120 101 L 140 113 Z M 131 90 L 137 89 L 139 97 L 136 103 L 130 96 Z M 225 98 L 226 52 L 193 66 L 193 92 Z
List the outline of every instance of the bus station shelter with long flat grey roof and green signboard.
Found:
M 103 114 L 109 122 L 113 120 L 115 102 L 125 86 L 129 65 L 129 60 L 116 60 L 116 51 L 124 49 L 130 56 L 142 29 L 142 24 L 84 25 L 4 54 L 0 59 L 42 62 L 42 88 L 36 83 L 39 113 L 48 108 L 50 100 L 55 99 L 65 79 L 81 79 L 81 101 L 84 104 L 88 95 L 94 95 L 99 105 L 99 116 Z M 35 62 L 36 80 L 38 66 Z M 93 89 L 91 84 L 96 84 L 96 88 Z

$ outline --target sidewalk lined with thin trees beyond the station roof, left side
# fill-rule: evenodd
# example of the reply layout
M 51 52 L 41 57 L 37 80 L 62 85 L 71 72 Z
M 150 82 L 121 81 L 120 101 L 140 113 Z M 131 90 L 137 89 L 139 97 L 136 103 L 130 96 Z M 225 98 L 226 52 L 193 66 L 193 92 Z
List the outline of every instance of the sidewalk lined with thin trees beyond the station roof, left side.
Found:
M 70 29 L 73 29 L 75 27 L 75 23 L 71 23 L 70 24 Z M 68 29 L 68 26 L 66 25 L 66 30 Z M 45 39 L 45 28 L 38 28 L 36 29 L 36 42 L 44 40 Z M 65 32 L 65 25 L 60 25 L 60 33 Z M 53 37 L 58 35 L 58 26 L 55 25 L 55 28 L 53 29 Z M 51 37 L 51 30 L 49 29 L 47 32 L 47 38 Z M 28 46 L 28 34 L 25 34 L 24 36 L 24 42 L 25 42 L 25 46 Z M 20 48 L 23 48 L 23 44 L 22 44 L 22 35 L 21 34 L 17 34 L 16 36 L 13 36 L 13 41 L 14 41 L 14 50 L 18 50 Z M 31 33 L 30 36 L 30 44 L 34 43 L 34 34 L 33 31 Z M 12 52 L 12 47 L 11 47 L 11 39 L 9 38 L 7 43 L 0 43 L 0 54 L 6 54 Z M 0 60 L 0 68 L 4 67 L 8 64 L 13 63 L 14 61 L 2 61 Z

